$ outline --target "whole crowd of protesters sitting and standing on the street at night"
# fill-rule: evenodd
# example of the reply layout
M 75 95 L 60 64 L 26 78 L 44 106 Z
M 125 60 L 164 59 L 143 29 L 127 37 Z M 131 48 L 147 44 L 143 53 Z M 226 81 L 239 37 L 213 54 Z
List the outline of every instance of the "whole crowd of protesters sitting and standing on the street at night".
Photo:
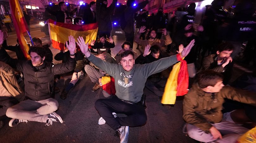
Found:
M 218 33 L 225 22 L 232 21 L 229 13 L 220 9 L 224 3 L 218 2 L 214 0 L 212 5 L 206 6 L 204 20 L 197 25 L 193 22 L 195 3 L 190 3 L 187 9 L 177 9 L 176 14 L 168 19 L 163 8 L 159 8 L 157 14 L 148 16 L 143 9 L 148 0 L 138 3 L 137 7 L 132 7 L 134 0 L 128 0 L 120 17 L 126 41 L 120 45 L 122 49 L 112 55 L 111 49 L 119 46 L 111 37 L 111 14 L 117 0 L 113 0 L 108 7 L 107 0 L 92 1 L 84 9 L 82 18 L 75 17 L 74 21 L 71 16 L 77 9 L 68 12 L 65 2 L 59 2 L 60 9 L 52 10 L 41 0 L 46 11 L 54 15 L 57 22 L 74 25 L 98 22 L 99 38 L 88 45 L 83 37 L 74 39 L 70 35 L 65 49 L 53 57 L 50 45 L 42 45 L 42 40 L 34 37 L 34 46 L 29 44 L 31 60 L 27 60 L 19 41 L 16 46 L 7 45 L 7 36 L 0 31 L 0 106 L 4 105 L 0 109 L 0 116 L 11 118 L 10 127 L 28 121 L 46 123 L 48 126 L 53 122 L 63 123 L 56 113 L 56 83 L 60 77 L 71 79 L 60 95 L 62 100 L 68 100 L 69 90 L 87 74 L 95 83 L 92 92 L 103 89 L 102 94 L 106 97 L 95 102 L 101 116 L 98 124 L 108 124 L 119 135 L 120 142 L 125 143 L 128 141 L 129 127 L 142 126 L 147 122 L 144 87 L 161 97 L 163 90 L 160 84 L 166 82 L 161 72 L 186 60 L 189 91 L 183 100 L 183 119 L 186 122 L 183 132 L 202 142 L 235 142 L 256 125 L 256 117 L 252 116 L 256 115 L 256 70 L 254 67 L 253 74 L 244 74 L 230 83 L 240 47 L 237 48 L 231 37 L 221 38 Z M 243 3 L 237 4 L 240 8 L 237 19 L 248 14 L 242 6 Z M 140 9 L 141 13 L 136 15 Z M 253 13 L 246 18 L 255 19 Z M 135 27 L 138 32 L 134 36 Z M 254 48 L 254 51 L 253 48 L 248 50 L 247 54 L 254 52 L 255 58 L 255 36 L 247 41 Z M 137 44 L 135 49 L 141 47 L 142 54 L 138 55 L 133 50 L 136 47 L 134 43 Z M 167 50 L 163 51 L 163 47 L 167 47 Z M 15 51 L 17 59 L 12 59 L 5 49 Z M 54 64 L 53 58 L 62 63 Z M 15 72 L 18 73 L 18 81 Z M 20 79 L 24 81 L 24 91 L 18 84 Z M 103 88 L 106 79 L 112 84 Z M 117 113 L 127 117 L 118 117 Z M 249 125 L 245 128 L 242 126 L 244 124 Z

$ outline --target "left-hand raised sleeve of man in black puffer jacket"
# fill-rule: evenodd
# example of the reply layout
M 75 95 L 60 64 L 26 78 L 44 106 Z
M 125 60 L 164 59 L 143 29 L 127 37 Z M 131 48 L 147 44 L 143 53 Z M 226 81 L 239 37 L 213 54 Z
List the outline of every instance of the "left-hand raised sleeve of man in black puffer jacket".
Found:
M 0 61 L 21 72 L 23 71 L 23 63 L 26 62 L 22 60 L 12 59 L 3 48 L 0 49 Z

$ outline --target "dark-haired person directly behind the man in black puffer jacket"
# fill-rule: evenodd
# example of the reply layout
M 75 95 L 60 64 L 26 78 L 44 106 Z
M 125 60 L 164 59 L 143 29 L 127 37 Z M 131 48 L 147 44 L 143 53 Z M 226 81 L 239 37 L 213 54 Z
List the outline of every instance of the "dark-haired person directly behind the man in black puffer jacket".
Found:
M 34 46 L 43 47 L 45 49 L 45 51 L 46 51 L 45 61 L 53 62 L 53 53 L 52 53 L 52 51 L 49 48 L 50 45 L 49 44 L 42 45 L 42 40 L 40 38 L 38 38 L 38 37 L 32 38 L 32 41 L 34 43 Z

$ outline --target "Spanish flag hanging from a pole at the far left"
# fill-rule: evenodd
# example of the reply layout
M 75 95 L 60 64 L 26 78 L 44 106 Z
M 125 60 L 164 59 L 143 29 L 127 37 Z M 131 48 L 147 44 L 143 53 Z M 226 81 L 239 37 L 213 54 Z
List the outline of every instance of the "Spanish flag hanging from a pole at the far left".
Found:
M 30 60 L 30 56 L 28 54 L 29 46 L 25 41 L 25 37 L 24 37 L 27 34 L 27 31 L 29 29 L 28 25 L 26 23 L 26 20 L 24 18 L 24 15 L 18 0 L 11 0 L 9 1 L 9 3 L 10 3 L 10 10 L 12 13 L 12 21 L 15 27 L 15 31 L 16 31 L 19 43 L 20 43 L 20 48 L 24 56 L 28 60 Z

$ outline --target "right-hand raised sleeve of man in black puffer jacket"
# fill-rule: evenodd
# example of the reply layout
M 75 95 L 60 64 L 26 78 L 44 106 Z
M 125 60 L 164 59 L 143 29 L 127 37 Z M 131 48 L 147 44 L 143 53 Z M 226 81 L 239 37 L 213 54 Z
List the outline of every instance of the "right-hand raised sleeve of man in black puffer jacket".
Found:
M 63 74 L 63 73 L 71 72 L 71 71 L 74 70 L 75 64 L 76 64 L 75 58 L 71 58 L 71 57 L 69 56 L 69 58 L 68 58 L 68 60 L 67 60 L 66 63 L 53 65 L 52 68 L 51 68 L 51 72 L 52 72 L 54 75 L 58 75 L 58 74 Z

